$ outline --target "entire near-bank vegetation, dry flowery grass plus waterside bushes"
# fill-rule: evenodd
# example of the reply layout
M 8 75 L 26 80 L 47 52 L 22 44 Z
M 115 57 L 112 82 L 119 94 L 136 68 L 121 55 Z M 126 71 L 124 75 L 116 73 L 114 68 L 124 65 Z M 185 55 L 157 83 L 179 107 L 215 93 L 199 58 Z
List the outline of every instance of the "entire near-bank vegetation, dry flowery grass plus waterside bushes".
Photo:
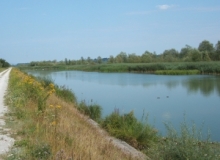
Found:
M 162 138 L 150 125 L 139 122 L 133 112 L 121 115 L 115 111 L 101 119 L 100 106 L 77 104 L 70 90 L 15 69 L 6 101 L 10 107 L 7 124 L 17 140 L 8 160 L 131 159 L 88 124 L 82 113 L 152 159 L 220 159 L 219 144 L 202 140 L 195 127 L 183 123 L 178 134 L 167 126 L 168 135 Z

